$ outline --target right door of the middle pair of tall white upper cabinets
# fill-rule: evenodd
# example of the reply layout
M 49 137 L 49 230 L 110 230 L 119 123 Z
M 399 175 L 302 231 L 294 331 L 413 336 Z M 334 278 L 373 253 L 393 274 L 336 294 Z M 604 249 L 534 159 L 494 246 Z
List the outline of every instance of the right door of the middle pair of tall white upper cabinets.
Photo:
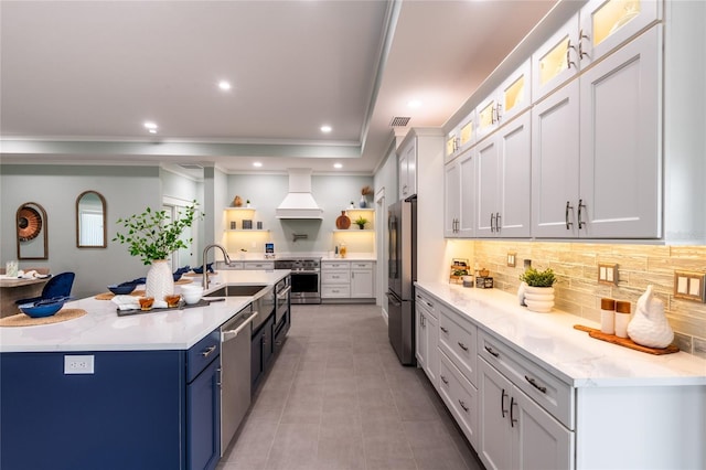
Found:
M 498 174 L 498 209 L 495 235 L 530 236 L 531 201 L 531 114 L 527 111 L 498 132 L 500 165 Z

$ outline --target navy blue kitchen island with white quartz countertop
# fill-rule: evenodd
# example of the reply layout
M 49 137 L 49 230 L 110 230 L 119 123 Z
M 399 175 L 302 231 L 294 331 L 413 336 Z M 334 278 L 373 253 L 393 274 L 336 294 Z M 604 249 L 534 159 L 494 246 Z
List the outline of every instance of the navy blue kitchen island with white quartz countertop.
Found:
M 288 275 L 218 273 L 204 296 Z M 218 329 L 252 301 L 118 317 L 115 303 L 87 298 L 65 306 L 81 318 L 0 328 L 0 468 L 214 468 Z

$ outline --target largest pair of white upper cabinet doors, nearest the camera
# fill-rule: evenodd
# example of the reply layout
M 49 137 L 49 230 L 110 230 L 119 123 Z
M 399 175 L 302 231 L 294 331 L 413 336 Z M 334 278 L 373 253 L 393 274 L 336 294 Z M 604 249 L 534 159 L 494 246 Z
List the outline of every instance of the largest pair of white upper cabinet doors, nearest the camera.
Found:
M 533 108 L 532 234 L 661 235 L 660 29 Z

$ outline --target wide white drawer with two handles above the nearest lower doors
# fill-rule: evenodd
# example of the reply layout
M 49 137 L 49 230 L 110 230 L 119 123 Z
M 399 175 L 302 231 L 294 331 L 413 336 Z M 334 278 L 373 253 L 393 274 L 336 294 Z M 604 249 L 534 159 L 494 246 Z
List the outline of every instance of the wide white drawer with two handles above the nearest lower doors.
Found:
M 479 335 L 478 354 L 564 426 L 574 429 L 574 395 L 569 384 L 484 331 Z

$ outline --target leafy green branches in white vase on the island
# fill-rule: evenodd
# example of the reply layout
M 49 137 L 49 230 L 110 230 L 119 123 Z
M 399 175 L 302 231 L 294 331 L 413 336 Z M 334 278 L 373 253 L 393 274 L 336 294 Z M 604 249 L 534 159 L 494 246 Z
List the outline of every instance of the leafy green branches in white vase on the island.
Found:
M 174 220 L 167 215 L 167 211 L 147 207 L 141 214 L 116 221 L 124 232 L 118 232 L 113 241 L 128 245 L 130 255 L 139 256 L 142 264 L 150 266 L 146 282 L 147 297 L 162 300 L 165 295 L 174 292 L 174 278 L 168 258 L 193 242 L 193 238 L 184 239 L 182 235 L 195 220 L 203 217 L 203 214 L 197 214 L 197 205 L 193 201 L 183 212 L 178 211 Z

